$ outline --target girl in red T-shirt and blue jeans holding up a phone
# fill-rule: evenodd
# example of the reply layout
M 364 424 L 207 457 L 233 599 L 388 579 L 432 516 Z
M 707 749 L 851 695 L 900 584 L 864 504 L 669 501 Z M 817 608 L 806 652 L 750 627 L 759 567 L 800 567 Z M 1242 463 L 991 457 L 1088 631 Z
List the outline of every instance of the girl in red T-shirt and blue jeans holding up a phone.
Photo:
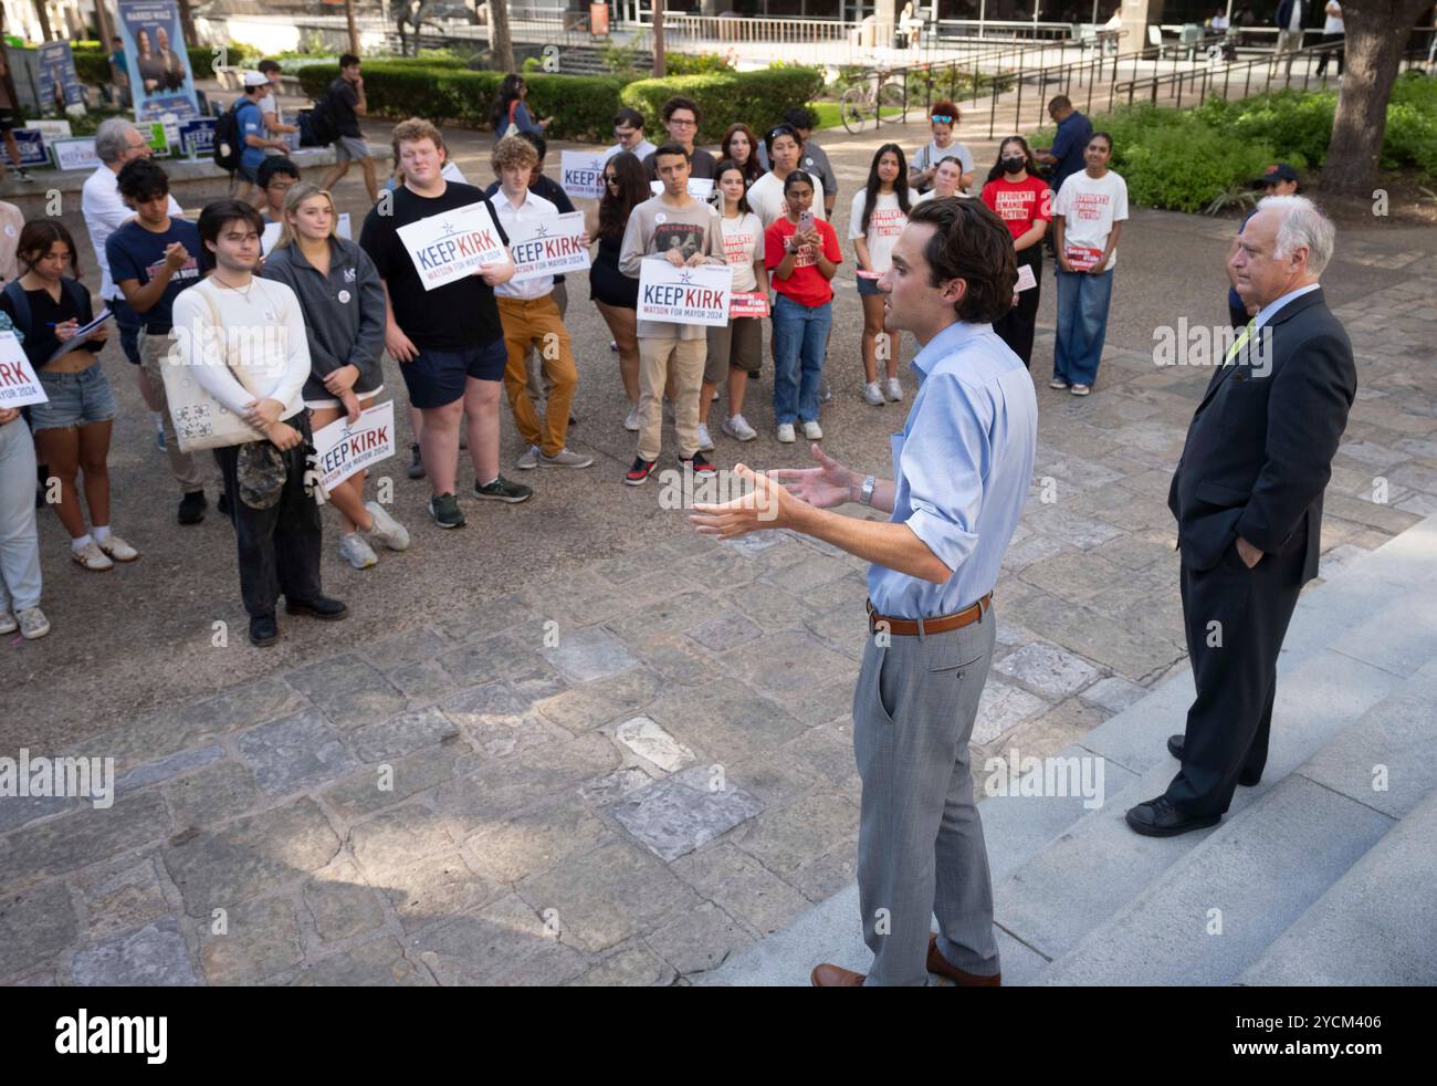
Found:
M 763 237 L 764 263 L 777 295 L 773 302 L 773 417 L 779 440 L 792 444 L 793 423 L 810 442 L 818 424 L 823 354 L 833 325 L 833 286 L 844 250 L 829 223 L 813 217 L 815 181 L 802 170 L 783 180 L 787 214 Z M 802 373 L 799 370 L 802 360 Z

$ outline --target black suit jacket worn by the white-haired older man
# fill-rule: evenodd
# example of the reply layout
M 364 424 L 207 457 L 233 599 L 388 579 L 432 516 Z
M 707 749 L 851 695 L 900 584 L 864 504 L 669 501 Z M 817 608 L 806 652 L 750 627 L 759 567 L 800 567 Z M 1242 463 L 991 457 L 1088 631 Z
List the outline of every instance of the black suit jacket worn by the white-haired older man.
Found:
M 1183 564 L 1211 570 L 1239 535 L 1285 554 L 1305 526 L 1302 580 L 1316 577 L 1322 490 L 1355 396 L 1352 344 L 1322 289 L 1282 306 L 1193 414 L 1168 490 Z

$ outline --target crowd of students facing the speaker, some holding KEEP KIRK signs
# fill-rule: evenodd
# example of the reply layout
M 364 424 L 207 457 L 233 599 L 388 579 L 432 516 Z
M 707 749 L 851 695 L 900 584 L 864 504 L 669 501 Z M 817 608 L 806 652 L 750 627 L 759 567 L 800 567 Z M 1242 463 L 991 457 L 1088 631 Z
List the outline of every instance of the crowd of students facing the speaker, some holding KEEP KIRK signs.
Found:
M 427 289 L 399 233 L 480 203 L 507 246 L 510 232 L 526 223 L 573 210 L 568 194 L 543 174 L 547 121 L 530 114 L 523 79 L 509 76 L 494 108 L 496 180 L 487 190 L 468 184 L 448 161 L 437 127 L 404 121 L 392 132 L 392 197 L 369 211 L 352 240 L 328 188 L 300 181 L 299 168 L 282 152 L 279 137 L 292 125 L 277 108 L 263 109 L 272 75 L 246 76 L 236 106 L 244 114 L 241 131 L 253 137 L 246 154 L 254 152 L 240 180 L 253 186 L 259 207 L 230 199 L 207 206 L 197 223 L 185 220 L 165 171 L 149 160 L 147 141 L 122 119 L 106 121 L 96 134 L 102 164 L 83 188 L 101 299 L 114 314 L 122 352 L 152 411 L 157 443 L 168 456 L 180 524 L 204 518 L 211 472 L 175 432 L 164 362 L 193 367 L 210 409 L 249 427 L 243 440 L 214 449 L 214 459 L 220 511 L 236 529 L 241 596 L 256 644 L 277 637 L 280 596 L 290 613 L 320 619 L 346 613 L 320 590 L 312 442 L 316 430 L 341 417 L 358 420 L 385 391 L 384 352 L 398 362 L 408 397 L 415 434 L 410 475 L 428 479 L 428 514 L 440 528 L 466 522 L 457 486 L 461 450 L 473 462 L 474 498 L 516 503 L 532 496 L 530 486 L 500 470 L 504 398 L 525 440 L 517 469 L 593 463 L 566 440 L 579 367 L 565 327 L 563 276 L 513 282 L 514 266 L 504 259 Z M 351 111 L 339 142 L 362 141 L 348 134 L 358 131 L 349 122 L 364 112 L 356 58 L 343 59 L 331 93 Z M 1112 141 L 1099 132 L 1082 141 L 1081 173 L 1069 168 L 1066 180 L 1055 174 L 1053 199 L 1038 158 L 1046 154 L 1059 168 L 1071 167 L 1073 141 L 1083 135 L 1071 119 L 1071 105 L 1066 114 L 1063 108 L 1065 99 L 1050 106 L 1061 122 L 1050 151 L 1035 155 L 1020 137 L 1003 141 L 980 199 L 1007 223 L 1019 265 L 1033 272 L 996 325 L 1025 364 L 1032 355 L 1042 245 L 1053 224 L 1059 328 L 1052 384 L 1083 394 L 1102 350 L 1127 193 L 1122 178 L 1106 168 Z M 878 286 L 892 266 L 894 243 L 918 203 L 969 196 L 973 183 L 973 157 L 956 135 L 957 108 L 940 102 L 930 112 L 933 140 L 914 155 L 914 168 L 900 145 L 884 144 L 851 201 L 848 233 L 864 312 L 861 396 L 874 406 L 904 398 L 900 352 L 884 324 Z M 764 324 L 777 440 L 792 443 L 799 430 L 806 440 L 823 437 L 833 280 L 844 260 L 829 222 L 838 180 L 812 140 L 806 109 L 790 111 L 762 138 L 746 125 L 731 125 L 717 157 L 694 142 L 703 122 L 697 102 L 674 96 L 661 117 L 668 138 L 658 145 L 645 138 L 642 115 L 624 109 L 615 117 L 604 194 L 586 210 L 581 237 L 592 253 L 591 301 L 614 337 L 629 400 L 622 424 L 635 433 L 634 462 L 624 478 L 631 486 L 660 465 L 665 406 L 678 446 L 675 466 L 694 475 L 714 472 L 706 453 L 714 449 L 716 401 L 726 401 L 721 434 L 736 442 L 757 437 L 743 409 L 752 400 L 749 384 L 762 371 Z M 355 158 L 365 164 L 368 183 L 368 148 L 351 142 L 346 150 L 326 183 Z M 691 186 L 694 178 L 707 184 Z M 376 194 L 376 184 L 366 187 Z M 0 296 L 0 325 L 22 337 L 49 403 L 26 411 L 34 434 L 29 460 L 17 452 L 32 443 L 16 439 L 14 413 L 0 413 L 7 518 L 0 601 L 9 604 L 0 608 L 0 623 L 40 636 L 47 624 L 39 611 L 29 499 L 37 476 L 56 483 L 49 503 L 80 567 L 109 570 L 139 552 L 114 531 L 111 515 L 106 455 L 116 409 L 96 362 L 108 325 L 91 332 L 83 350 L 50 361 L 93 315 L 89 292 L 78 283 L 73 240 L 57 222 L 36 220 L 23 226 L 17 255 L 23 273 Z M 733 292 L 767 296 L 772 311 L 767 319 L 743 315 L 707 328 L 641 321 L 638 280 L 644 262 L 654 259 L 727 265 Z M 246 328 L 276 331 L 283 350 L 266 348 L 263 337 L 240 335 Z M 22 488 L 17 480 L 27 483 Z M 322 496 L 335 505 L 339 551 L 355 568 L 372 567 L 381 551 L 408 547 L 404 525 L 365 499 L 364 472 Z

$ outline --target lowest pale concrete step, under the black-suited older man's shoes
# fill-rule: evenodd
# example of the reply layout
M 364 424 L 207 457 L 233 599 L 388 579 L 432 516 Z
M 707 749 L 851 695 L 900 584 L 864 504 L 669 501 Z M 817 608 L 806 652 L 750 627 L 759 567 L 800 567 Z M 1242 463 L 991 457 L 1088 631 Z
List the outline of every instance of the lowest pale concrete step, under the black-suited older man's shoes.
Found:
M 1434 594 L 1414 591 L 1427 583 L 1437 584 L 1437 516 L 1303 594 L 1277 665 L 1279 698 L 1266 780 L 1257 788 L 1237 790 L 1229 823 L 1397 692 L 1404 677 L 1423 666 L 1423 653 L 1437 659 L 1437 649 L 1426 647 L 1430 614 L 1417 603 Z M 1378 666 L 1388 659 L 1385 653 L 1392 654 L 1395 670 Z M 1073 949 L 1092 928 L 1211 836 L 1138 837 L 1122 821 L 1127 807 L 1160 794 L 1177 771 L 1165 739 L 1183 731 L 1191 699 L 1191 672 L 1184 670 L 1058 755 L 1105 759 L 1105 803 L 1099 810 L 1086 810 L 1078 797 L 1046 795 L 996 795 L 979 806 L 999 895 L 1004 982 L 1036 980 L 1050 961 Z M 1355 734 L 1351 742 L 1357 742 Z M 1344 767 L 1315 765 L 1309 780 L 1331 787 L 1339 770 Z M 1104 877 L 1094 879 L 1094 870 Z M 1101 885 L 1089 886 L 1089 880 Z M 806 984 L 821 961 L 856 969 L 871 961 L 858 923 L 855 886 L 730 959 L 703 982 Z

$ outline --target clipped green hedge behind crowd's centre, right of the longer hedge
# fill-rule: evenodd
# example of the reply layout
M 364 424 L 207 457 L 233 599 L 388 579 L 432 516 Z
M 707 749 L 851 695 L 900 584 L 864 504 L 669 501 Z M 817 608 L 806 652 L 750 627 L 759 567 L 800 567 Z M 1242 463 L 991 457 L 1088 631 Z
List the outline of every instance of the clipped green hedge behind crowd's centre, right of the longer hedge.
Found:
M 660 109 L 674 95 L 687 95 L 703 108 L 698 142 L 717 142 L 724 129 L 744 122 L 754 132 L 783 119 L 783 111 L 808 105 L 823 89 L 823 73 L 816 68 L 782 68 L 766 72 L 716 72 L 680 75 L 664 79 L 638 79 L 624 88 L 624 105 L 644 114 L 650 132 L 662 132 Z

